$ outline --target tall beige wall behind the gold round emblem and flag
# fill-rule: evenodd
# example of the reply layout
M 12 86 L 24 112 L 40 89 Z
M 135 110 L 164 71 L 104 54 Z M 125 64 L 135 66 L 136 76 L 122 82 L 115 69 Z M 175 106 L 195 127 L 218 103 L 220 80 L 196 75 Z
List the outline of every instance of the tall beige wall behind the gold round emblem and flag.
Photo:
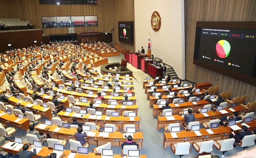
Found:
M 135 0 L 136 50 L 148 48 L 150 33 L 151 52 L 172 66 L 178 77 L 185 79 L 184 49 L 184 1 L 183 0 Z M 151 28 L 151 15 L 157 11 L 162 18 L 158 32 Z

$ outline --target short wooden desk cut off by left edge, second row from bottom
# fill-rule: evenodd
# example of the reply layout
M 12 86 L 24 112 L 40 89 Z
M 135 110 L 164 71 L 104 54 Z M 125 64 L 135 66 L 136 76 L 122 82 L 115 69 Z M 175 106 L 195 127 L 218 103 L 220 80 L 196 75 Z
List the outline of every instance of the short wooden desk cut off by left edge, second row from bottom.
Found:
M 3 110 L 0 111 L 0 115 L 4 113 Z M 16 117 L 15 115 L 9 115 L 9 114 L 3 114 L 0 116 L 0 120 L 2 121 L 3 124 L 5 125 L 12 125 L 15 128 L 20 128 L 21 130 L 27 131 L 29 129 L 29 120 L 24 118 L 21 119 L 18 122 L 15 122 L 15 120 L 17 120 L 18 117 Z

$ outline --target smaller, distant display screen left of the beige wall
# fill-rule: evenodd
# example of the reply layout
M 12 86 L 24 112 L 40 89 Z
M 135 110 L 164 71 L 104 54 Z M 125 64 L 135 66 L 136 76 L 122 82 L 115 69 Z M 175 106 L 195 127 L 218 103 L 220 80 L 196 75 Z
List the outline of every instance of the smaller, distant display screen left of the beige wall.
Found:
M 118 22 L 118 39 L 121 42 L 133 44 L 133 21 Z

